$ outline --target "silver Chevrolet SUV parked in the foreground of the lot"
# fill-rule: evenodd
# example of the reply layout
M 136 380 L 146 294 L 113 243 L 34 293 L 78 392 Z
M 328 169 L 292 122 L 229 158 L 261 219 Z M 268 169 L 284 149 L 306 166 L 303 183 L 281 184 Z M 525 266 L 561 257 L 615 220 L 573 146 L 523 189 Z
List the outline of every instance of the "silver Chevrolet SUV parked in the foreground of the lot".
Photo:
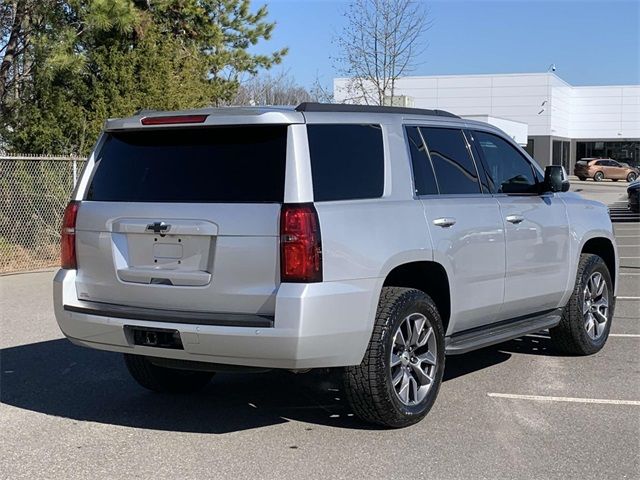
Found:
M 488 124 L 302 104 L 109 120 L 64 217 L 54 280 L 74 343 L 155 391 L 215 371 L 341 367 L 361 418 L 433 405 L 445 355 L 549 329 L 609 334 L 607 208 Z

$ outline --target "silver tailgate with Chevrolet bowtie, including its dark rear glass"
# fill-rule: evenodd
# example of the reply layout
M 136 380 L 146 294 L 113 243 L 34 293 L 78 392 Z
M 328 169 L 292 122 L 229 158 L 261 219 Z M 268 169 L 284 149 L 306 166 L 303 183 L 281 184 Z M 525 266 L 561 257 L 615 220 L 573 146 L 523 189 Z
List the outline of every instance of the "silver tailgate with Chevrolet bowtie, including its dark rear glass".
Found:
M 273 315 L 286 125 L 108 133 L 76 224 L 79 300 Z

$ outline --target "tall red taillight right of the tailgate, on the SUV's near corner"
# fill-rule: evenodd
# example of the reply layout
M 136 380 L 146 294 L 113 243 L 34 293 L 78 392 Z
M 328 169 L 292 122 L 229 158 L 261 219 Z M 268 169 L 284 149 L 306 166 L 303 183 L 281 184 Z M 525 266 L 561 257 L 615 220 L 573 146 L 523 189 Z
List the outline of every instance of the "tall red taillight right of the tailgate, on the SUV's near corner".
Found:
M 322 281 L 320 222 L 311 203 L 282 206 L 280 280 L 297 283 Z

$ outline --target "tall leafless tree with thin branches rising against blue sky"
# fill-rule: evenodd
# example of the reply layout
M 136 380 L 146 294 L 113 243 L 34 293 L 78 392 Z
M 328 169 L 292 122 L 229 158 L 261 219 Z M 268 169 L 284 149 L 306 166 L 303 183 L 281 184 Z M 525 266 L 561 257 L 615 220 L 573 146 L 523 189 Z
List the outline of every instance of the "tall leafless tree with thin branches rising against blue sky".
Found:
M 347 77 L 349 101 L 384 105 L 399 77 L 421 63 L 429 11 L 415 0 L 352 0 L 337 38 L 338 72 Z

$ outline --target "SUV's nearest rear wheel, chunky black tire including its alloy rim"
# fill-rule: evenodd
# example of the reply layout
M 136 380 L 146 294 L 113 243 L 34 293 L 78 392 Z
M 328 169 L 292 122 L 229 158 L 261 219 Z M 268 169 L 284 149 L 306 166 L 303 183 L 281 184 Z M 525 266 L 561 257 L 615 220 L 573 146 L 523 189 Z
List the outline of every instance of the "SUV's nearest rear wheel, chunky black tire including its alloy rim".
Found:
M 420 333 L 413 349 L 398 355 L 414 338 L 407 326 Z M 405 336 L 409 340 L 402 347 Z M 420 290 L 384 287 L 362 363 L 344 369 L 344 389 L 353 412 L 386 427 L 413 425 L 433 406 L 443 372 L 444 330 L 433 300 Z M 399 380 L 394 384 L 392 377 Z

